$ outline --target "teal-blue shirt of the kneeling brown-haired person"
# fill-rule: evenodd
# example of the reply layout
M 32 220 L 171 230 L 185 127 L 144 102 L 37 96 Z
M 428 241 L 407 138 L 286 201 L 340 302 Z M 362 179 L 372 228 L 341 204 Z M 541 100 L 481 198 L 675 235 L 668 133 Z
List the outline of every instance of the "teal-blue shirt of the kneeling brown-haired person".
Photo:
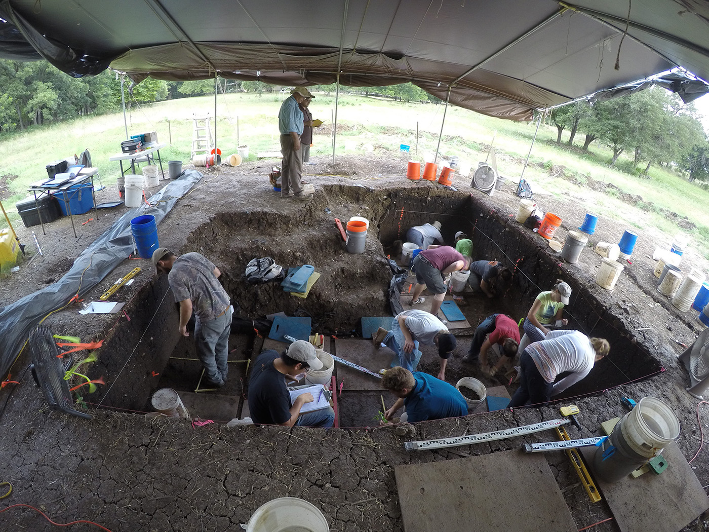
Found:
M 410 423 L 468 415 L 468 404 L 454 386 L 420 371 L 413 377 L 413 392 L 403 400 Z

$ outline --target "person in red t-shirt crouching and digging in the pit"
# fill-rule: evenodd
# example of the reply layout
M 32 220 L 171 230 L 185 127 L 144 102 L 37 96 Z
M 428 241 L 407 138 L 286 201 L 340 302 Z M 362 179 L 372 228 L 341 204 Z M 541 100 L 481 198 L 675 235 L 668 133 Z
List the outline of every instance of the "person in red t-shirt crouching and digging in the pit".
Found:
M 490 368 L 487 361 L 487 352 L 493 343 L 502 346 L 502 356 L 495 367 Z M 483 375 L 494 377 L 505 362 L 515 358 L 519 344 L 520 327 L 517 322 L 505 314 L 493 314 L 485 318 L 475 329 L 473 340 L 470 343 L 470 350 L 463 357 L 463 362 L 474 364 L 479 361 Z

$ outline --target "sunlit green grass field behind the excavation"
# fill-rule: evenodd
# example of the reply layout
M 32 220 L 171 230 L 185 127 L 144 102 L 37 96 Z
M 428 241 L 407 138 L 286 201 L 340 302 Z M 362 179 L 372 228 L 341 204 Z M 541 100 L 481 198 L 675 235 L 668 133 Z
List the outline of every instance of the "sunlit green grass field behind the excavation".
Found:
M 218 145 L 223 155 L 235 153 L 239 145 L 248 145 L 250 159 L 262 151 L 279 150 L 277 113 L 281 98 L 272 94 L 226 94 L 217 100 Z M 311 104 L 314 118 L 331 126 L 335 110 L 334 94 L 317 94 Z M 213 96 L 164 101 L 157 104 L 133 106 L 128 115 L 128 132 L 157 131 L 160 142 L 169 143 L 161 150 L 164 162 L 172 159 L 188 161 L 191 151 L 192 121 L 196 116 L 214 113 Z M 371 144 L 376 157 L 401 157 L 399 145 L 411 145 L 412 159 L 423 160 L 435 153 L 438 133 L 443 116 L 443 106 L 435 104 L 403 103 L 345 94 L 340 96 L 337 109 L 337 153 L 352 148 L 353 141 L 363 157 L 371 157 L 361 150 L 362 144 Z M 238 133 L 237 133 L 238 123 Z M 419 131 L 418 154 L 415 132 Z M 535 132 L 535 124 L 489 118 L 487 116 L 451 107 L 447 111 L 443 129 L 441 153 L 457 155 L 460 165 L 466 162 L 475 166 L 486 157 L 487 146 L 495 136 L 498 170 L 501 174 L 517 179 L 522 171 Z M 679 232 L 657 209 L 669 209 L 680 216 L 687 216 L 698 229 L 690 233 L 691 245 L 696 250 L 709 250 L 709 192 L 698 184 L 688 183 L 686 177 L 651 167 L 651 179 L 634 177 L 610 167 L 610 151 L 591 145 L 588 153 L 569 150 L 553 143 L 556 128 L 542 125 L 532 155 L 530 166 L 525 170 L 525 179 L 535 187 L 545 189 L 559 198 L 579 201 L 589 211 L 604 218 L 657 234 L 658 242 L 669 244 L 671 237 Z M 27 196 L 27 186 L 44 177 L 45 165 L 52 160 L 80 153 L 88 148 L 94 166 L 99 167 L 101 181 L 113 184 L 119 175 L 118 163 L 108 162 L 108 157 L 120 151 L 125 138 L 123 114 L 79 118 L 75 121 L 30 128 L 21 133 L 0 136 L 0 179 L 9 187 L 9 194 L 2 198 L 13 219 L 16 201 Z M 564 138 L 567 138 L 564 135 Z M 583 135 L 576 143 L 583 142 Z M 314 156 L 329 155 L 330 135 L 316 133 Z M 618 162 L 623 161 L 621 156 Z M 626 162 L 627 164 L 627 162 Z M 557 175 L 559 167 L 566 174 L 583 183 L 588 178 L 607 182 L 628 194 L 642 196 L 643 202 L 627 204 L 620 200 L 617 191 L 595 192 Z M 167 171 L 167 166 L 165 166 Z M 647 202 L 654 204 L 649 208 Z M 0 222 L 4 223 L 4 222 Z M 20 222 L 21 223 L 21 222 Z M 709 251 L 702 251 L 709 258 Z

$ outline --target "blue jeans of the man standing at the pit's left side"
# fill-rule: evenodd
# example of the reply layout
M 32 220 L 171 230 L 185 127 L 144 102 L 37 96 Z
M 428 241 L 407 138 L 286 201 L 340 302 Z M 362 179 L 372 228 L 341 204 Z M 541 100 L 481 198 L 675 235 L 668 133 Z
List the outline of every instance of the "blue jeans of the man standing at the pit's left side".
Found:
M 202 362 L 205 375 L 215 384 L 223 384 L 229 372 L 226 359 L 229 355 L 231 315 L 230 306 L 224 314 L 211 321 L 200 321 L 199 318 L 195 320 L 197 356 Z

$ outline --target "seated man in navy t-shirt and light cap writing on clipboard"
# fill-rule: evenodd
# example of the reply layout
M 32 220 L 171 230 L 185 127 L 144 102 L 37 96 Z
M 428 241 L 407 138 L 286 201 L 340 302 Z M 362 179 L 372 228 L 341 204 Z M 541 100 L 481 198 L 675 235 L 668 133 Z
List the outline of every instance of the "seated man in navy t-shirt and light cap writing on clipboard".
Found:
M 298 380 L 308 369 L 320 370 L 323 362 L 315 348 L 306 340 L 296 340 L 279 355 L 273 349 L 261 353 L 254 362 L 249 377 L 249 413 L 259 424 L 283 425 L 286 427 L 331 427 L 335 422 L 332 407 L 301 414 L 303 405 L 316 400 L 311 393 L 300 394 L 291 401 L 286 378 Z M 323 387 L 323 392 L 327 393 Z

